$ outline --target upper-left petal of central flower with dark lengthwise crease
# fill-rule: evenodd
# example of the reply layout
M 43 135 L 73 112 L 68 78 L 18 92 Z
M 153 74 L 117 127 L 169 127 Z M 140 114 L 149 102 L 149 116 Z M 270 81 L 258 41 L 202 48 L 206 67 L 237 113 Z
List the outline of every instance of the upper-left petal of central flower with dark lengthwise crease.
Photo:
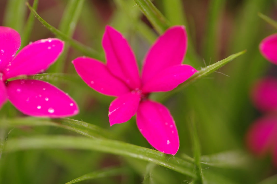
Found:
M 109 71 L 128 84 L 130 88 L 139 88 L 140 77 L 137 62 L 129 43 L 121 33 L 106 26 L 102 45 Z

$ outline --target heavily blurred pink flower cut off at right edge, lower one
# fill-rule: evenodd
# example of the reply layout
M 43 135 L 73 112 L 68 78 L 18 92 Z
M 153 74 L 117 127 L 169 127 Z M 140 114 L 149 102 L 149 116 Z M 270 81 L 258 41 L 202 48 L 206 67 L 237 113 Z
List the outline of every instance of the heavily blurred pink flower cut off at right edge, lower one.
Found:
M 246 141 L 257 156 L 271 154 L 277 166 L 277 79 L 266 77 L 253 86 L 251 99 L 255 107 L 266 113 L 249 128 Z

